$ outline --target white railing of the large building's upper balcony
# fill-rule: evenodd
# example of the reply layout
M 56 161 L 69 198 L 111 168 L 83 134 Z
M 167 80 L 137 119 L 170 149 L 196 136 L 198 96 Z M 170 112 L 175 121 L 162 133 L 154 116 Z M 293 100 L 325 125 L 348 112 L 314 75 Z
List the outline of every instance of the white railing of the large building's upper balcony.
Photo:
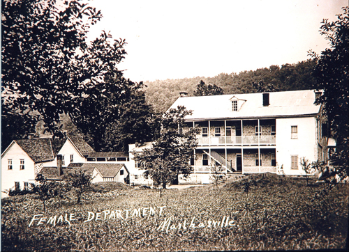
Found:
M 275 145 L 276 136 L 198 136 L 198 145 Z

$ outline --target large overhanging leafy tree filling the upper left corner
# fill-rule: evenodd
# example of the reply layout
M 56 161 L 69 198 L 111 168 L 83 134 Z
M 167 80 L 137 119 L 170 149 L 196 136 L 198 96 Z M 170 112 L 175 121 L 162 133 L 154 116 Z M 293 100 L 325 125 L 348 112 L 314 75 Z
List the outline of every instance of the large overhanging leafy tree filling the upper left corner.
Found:
M 124 40 L 103 32 L 87 42 L 101 12 L 83 1 L 2 1 L 1 103 L 4 116 L 41 119 L 57 131 L 59 114 L 74 115 L 104 75 L 122 74 Z M 15 130 L 15 129 L 13 129 Z

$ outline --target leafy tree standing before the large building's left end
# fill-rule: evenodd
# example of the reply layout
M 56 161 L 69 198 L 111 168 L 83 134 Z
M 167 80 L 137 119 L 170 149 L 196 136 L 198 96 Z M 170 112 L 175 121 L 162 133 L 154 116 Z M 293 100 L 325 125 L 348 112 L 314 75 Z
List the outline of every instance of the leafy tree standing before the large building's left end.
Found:
M 149 171 L 156 187 L 165 189 L 179 174 L 191 173 L 189 161 L 197 143 L 195 129 L 183 129 L 184 117 L 189 114 L 191 111 L 184 107 L 167 111 L 161 118 L 161 135 L 152 148 L 135 154 L 135 160 Z

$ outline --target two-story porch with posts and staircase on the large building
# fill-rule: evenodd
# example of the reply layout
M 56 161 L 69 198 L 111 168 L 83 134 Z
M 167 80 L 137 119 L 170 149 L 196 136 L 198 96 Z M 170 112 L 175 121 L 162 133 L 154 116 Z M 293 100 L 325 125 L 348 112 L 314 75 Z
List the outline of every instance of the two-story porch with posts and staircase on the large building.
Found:
M 194 173 L 276 172 L 276 120 L 201 120 L 186 123 L 200 128 L 198 147 L 191 161 Z

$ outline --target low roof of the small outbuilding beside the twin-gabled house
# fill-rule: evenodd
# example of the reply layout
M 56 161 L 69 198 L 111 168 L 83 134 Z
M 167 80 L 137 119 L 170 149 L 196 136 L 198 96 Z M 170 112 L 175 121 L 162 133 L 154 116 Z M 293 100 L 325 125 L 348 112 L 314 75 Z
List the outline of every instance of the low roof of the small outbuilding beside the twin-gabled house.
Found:
M 94 168 L 98 170 L 99 173 L 101 173 L 103 178 L 114 178 L 117 173 L 121 170 L 121 168 L 125 167 L 126 171 L 128 172 L 128 169 L 124 164 L 107 164 L 107 163 L 70 163 L 68 165 L 68 169 L 87 169 L 92 171 Z

